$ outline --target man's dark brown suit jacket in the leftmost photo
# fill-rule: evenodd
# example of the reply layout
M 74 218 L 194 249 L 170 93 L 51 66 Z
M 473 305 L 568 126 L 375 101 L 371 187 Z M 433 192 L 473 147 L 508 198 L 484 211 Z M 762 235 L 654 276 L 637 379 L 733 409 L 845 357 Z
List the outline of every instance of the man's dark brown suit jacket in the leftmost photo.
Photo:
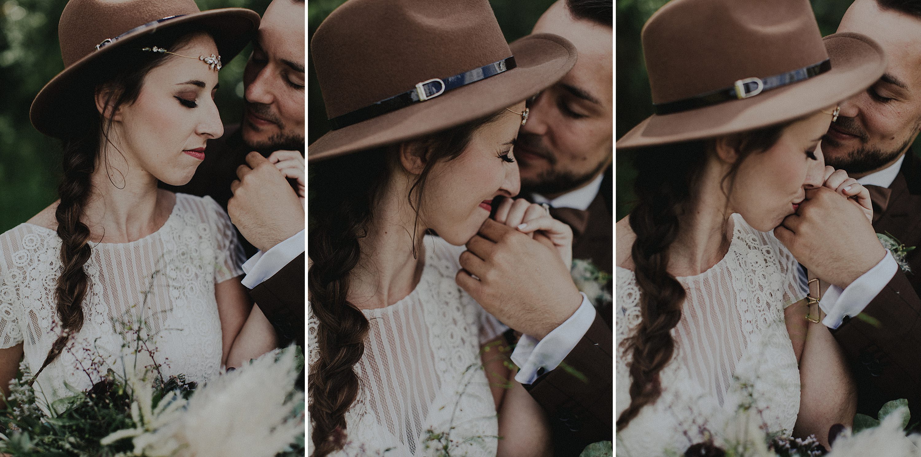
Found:
M 233 197 L 230 183 L 237 178 L 237 167 L 246 163 L 246 154 L 252 150 L 243 143 L 239 126 L 231 125 L 225 128 L 224 136 L 208 142 L 205 149 L 204 161 L 192 180 L 184 186 L 169 186 L 160 184 L 161 188 L 174 192 L 183 192 L 198 196 L 211 196 L 227 211 L 227 200 Z M 260 151 L 268 156 L 272 151 Z M 239 242 L 247 257 L 252 257 L 258 249 L 237 232 Z M 259 303 L 262 314 L 278 333 L 283 345 L 291 341 L 297 342 L 304 348 L 304 265 L 305 255 L 288 263 L 274 274 L 272 278 L 262 281 L 253 288 L 250 297 L 253 302 Z

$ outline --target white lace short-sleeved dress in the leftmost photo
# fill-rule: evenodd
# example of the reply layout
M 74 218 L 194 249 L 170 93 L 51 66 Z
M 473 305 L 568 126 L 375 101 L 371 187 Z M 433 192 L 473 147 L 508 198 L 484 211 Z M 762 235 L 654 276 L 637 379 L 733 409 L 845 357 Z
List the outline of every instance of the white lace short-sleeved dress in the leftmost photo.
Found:
M 165 376 L 185 374 L 199 383 L 216 376 L 222 346 L 215 284 L 239 276 L 243 260 L 220 205 L 176 194 L 157 232 L 130 243 L 90 245 L 83 328 L 41 371 L 37 397 L 51 403 L 71 394 L 65 385 L 86 390 L 108 369 L 134 366 L 135 357 L 140 367 L 156 360 Z M 55 311 L 60 252 L 57 233 L 39 225 L 21 223 L 0 234 L 0 348 L 24 343 L 33 373 L 61 331 Z M 149 350 L 136 350 L 138 335 Z

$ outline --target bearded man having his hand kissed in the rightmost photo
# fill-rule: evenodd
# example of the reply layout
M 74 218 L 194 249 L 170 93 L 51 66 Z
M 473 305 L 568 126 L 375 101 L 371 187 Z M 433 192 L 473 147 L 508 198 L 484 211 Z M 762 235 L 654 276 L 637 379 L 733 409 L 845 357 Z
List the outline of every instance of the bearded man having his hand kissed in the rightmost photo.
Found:
M 921 246 L 921 160 L 911 151 L 921 129 L 921 1 L 857 0 L 838 32 L 876 40 L 886 73 L 841 103 L 822 138 L 825 163 L 870 191 L 873 223 L 827 189 L 807 192 L 780 239 L 810 272 L 832 284 L 820 307 L 857 382 L 857 412 L 876 417 L 885 402 L 908 400 L 921 417 L 921 255 L 900 266 L 876 234 Z M 880 260 L 881 259 L 881 260 Z M 910 268 L 910 269 L 909 269 Z

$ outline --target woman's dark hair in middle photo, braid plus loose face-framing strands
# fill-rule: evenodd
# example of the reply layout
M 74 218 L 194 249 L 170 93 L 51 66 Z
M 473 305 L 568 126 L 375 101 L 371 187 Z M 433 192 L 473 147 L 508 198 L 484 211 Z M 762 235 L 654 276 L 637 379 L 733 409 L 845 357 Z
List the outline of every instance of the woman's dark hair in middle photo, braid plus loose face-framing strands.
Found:
M 467 148 L 473 133 L 498 120 L 505 111 L 416 139 L 409 147 L 424 154 L 426 166 L 406 198 L 419 223 L 426 182 L 438 162 L 453 160 Z M 368 322 L 348 301 L 349 275 L 361 258 L 359 239 L 367 234 L 380 189 L 399 166 L 398 145 L 348 154 L 310 165 L 308 291 L 316 316 L 316 361 L 309 367 L 308 411 L 313 425 L 313 457 L 342 449 L 345 412 L 358 394 L 354 366 L 365 352 Z M 415 242 L 414 234 L 412 243 Z M 415 246 L 414 246 L 415 247 Z M 414 251 L 415 252 L 415 251 Z

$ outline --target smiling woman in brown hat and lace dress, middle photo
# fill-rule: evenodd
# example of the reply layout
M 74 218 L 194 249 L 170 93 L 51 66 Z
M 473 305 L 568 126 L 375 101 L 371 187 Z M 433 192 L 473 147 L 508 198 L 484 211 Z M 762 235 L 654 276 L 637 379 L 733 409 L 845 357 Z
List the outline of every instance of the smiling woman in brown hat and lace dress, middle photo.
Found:
M 308 148 L 315 457 L 551 452 L 540 406 L 495 357 L 505 327 L 455 276 L 494 200 L 519 192 L 522 100 L 575 49 L 555 35 L 509 47 L 486 0 L 429 6 L 349 0 L 311 41 L 334 129 Z M 564 269 L 568 226 L 521 212 Z

